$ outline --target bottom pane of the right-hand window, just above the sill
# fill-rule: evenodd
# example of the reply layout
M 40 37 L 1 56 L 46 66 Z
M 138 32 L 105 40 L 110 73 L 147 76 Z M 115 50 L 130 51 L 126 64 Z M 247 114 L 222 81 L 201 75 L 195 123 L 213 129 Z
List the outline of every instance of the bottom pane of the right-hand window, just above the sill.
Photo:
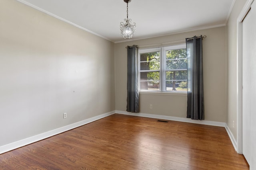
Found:
M 187 81 L 169 81 L 166 80 L 166 91 L 187 92 Z

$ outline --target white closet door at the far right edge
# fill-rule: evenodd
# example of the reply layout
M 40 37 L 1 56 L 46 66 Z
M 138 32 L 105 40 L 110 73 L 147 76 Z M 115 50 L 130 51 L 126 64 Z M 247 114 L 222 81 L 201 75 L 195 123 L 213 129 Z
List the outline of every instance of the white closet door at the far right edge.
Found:
M 256 2 L 243 21 L 242 149 L 256 170 Z

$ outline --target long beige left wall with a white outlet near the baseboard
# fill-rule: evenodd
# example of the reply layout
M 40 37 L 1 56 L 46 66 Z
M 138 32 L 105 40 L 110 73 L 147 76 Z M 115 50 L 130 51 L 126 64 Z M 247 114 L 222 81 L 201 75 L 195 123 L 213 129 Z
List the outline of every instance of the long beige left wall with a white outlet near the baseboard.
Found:
M 0 146 L 115 110 L 112 42 L 16 0 L 0 30 Z

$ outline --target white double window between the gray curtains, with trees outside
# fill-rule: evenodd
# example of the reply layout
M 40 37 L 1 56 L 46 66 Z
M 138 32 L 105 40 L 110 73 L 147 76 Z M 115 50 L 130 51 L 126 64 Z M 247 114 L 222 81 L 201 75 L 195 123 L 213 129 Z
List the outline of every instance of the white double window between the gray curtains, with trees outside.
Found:
M 139 49 L 141 91 L 187 92 L 186 44 Z

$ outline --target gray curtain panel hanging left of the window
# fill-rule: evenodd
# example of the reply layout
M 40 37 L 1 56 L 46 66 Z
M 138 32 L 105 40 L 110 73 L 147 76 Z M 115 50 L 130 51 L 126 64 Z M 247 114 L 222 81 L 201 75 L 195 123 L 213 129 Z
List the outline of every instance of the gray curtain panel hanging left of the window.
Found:
M 137 46 L 127 46 L 127 109 L 128 112 L 139 112 L 139 89 L 136 64 Z

